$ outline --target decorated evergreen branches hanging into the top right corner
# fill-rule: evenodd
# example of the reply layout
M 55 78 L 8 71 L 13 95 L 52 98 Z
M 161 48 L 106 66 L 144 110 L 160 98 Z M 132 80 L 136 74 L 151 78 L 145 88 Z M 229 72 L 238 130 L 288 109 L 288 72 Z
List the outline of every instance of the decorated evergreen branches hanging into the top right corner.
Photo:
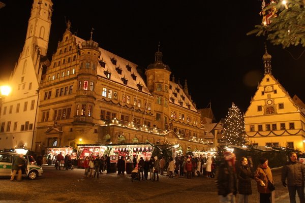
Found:
M 273 45 L 283 48 L 305 46 L 304 0 L 263 0 L 260 15 L 262 23 L 247 35 L 267 36 Z

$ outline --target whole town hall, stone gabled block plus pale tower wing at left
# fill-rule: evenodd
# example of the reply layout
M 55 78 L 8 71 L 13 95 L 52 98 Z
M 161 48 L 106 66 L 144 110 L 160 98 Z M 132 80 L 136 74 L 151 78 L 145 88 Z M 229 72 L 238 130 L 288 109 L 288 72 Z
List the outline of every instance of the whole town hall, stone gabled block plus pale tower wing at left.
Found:
M 90 39 L 73 35 L 68 21 L 48 60 L 51 12 L 50 0 L 34 0 L 13 93 L 3 103 L 0 148 L 150 142 L 209 149 L 187 82 L 182 87 L 171 76 L 160 47 L 141 76 L 137 64 L 101 48 L 93 32 Z

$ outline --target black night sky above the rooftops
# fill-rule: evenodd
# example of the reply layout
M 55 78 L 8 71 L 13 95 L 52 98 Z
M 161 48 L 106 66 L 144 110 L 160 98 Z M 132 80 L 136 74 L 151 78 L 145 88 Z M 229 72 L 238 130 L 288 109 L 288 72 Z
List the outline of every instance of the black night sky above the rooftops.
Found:
M 0 82 L 7 80 L 25 40 L 32 0 L 0 0 Z M 72 32 L 145 69 L 160 42 L 163 62 L 184 85 L 197 108 L 209 101 L 216 119 L 234 102 L 246 112 L 263 77 L 264 37 L 246 36 L 261 23 L 258 0 L 242 1 L 53 0 L 48 49 L 51 59 L 70 19 Z M 272 74 L 290 96 L 305 100 L 304 48 L 267 42 Z M 299 57 L 301 55 L 301 57 Z M 298 58 L 298 59 L 297 59 Z

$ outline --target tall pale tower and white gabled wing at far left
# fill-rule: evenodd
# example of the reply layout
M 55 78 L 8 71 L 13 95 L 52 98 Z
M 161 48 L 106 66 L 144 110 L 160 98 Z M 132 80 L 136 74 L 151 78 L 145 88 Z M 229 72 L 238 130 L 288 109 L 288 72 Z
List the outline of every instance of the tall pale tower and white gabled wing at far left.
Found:
M 0 119 L 0 149 L 35 143 L 39 84 L 46 59 L 52 15 L 51 0 L 34 0 L 23 50 L 10 76 L 12 92 L 4 99 Z

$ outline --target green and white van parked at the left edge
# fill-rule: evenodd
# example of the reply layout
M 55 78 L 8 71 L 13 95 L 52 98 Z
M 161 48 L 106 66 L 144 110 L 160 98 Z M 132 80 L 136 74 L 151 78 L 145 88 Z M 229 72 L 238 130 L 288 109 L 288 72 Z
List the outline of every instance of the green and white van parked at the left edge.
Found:
M 13 152 L 0 152 L 0 176 L 11 176 L 13 162 L 18 156 L 19 154 Z M 23 155 L 23 158 L 26 160 L 26 163 L 24 170 L 22 170 L 22 176 L 26 176 L 31 180 L 42 176 L 42 167 L 36 165 L 36 161 L 32 156 Z

